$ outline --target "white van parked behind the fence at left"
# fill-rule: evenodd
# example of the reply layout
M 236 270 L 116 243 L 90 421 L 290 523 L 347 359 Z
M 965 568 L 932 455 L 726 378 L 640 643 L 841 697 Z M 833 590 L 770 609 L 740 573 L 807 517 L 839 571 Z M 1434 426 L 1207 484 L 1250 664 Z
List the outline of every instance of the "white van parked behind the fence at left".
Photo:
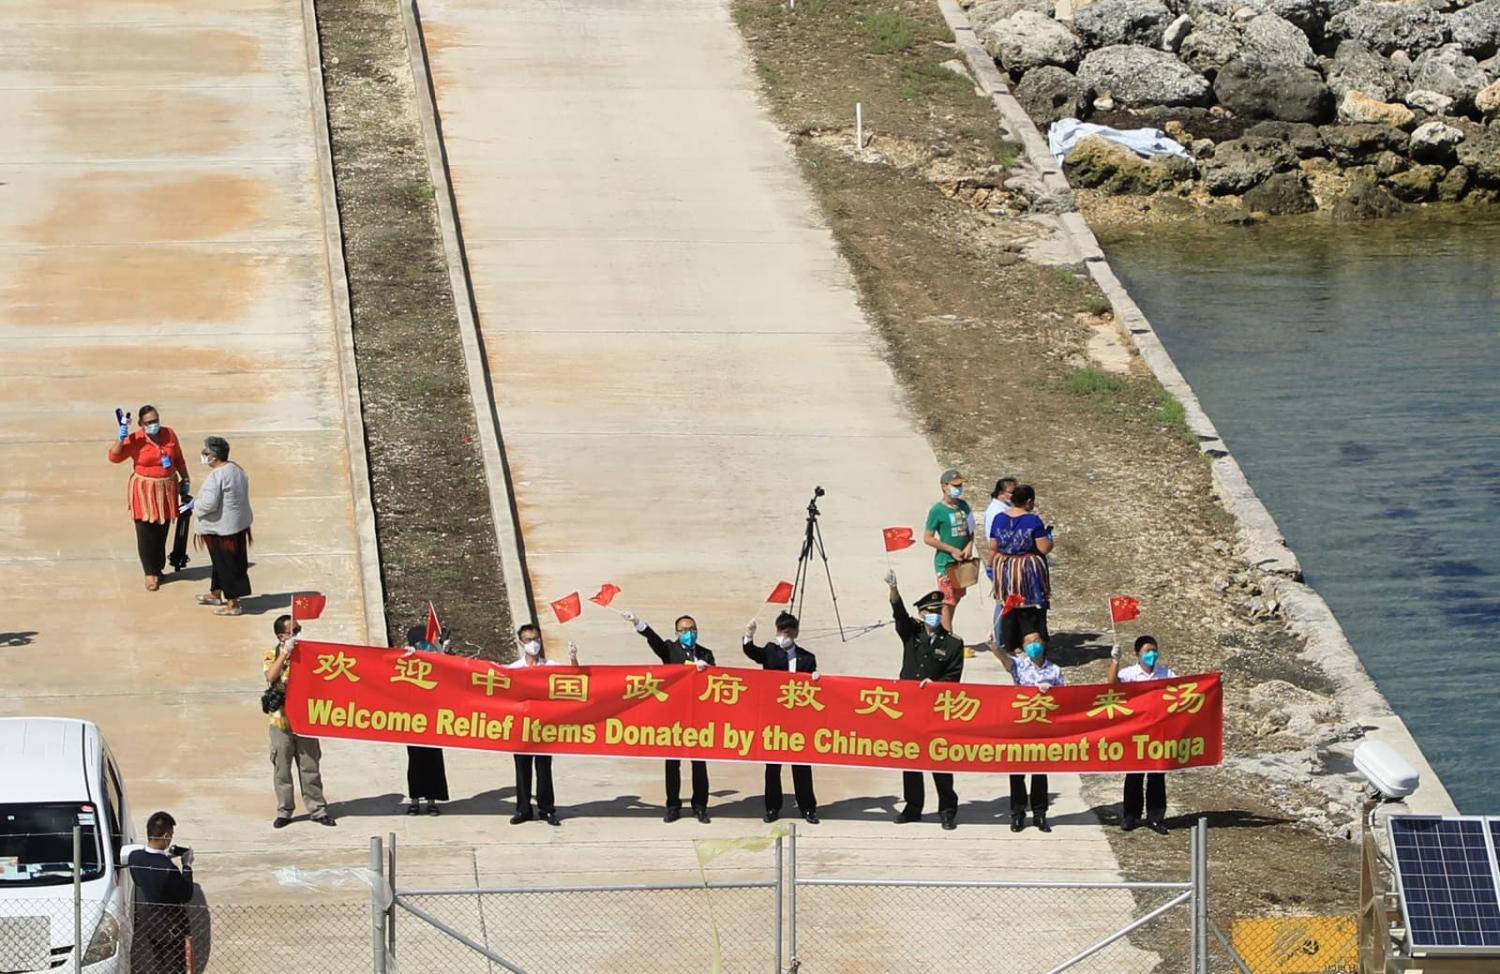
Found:
M 84 971 L 130 969 L 135 843 L 120 767 L 98 725 L 0 717 L 0 974 L 74 969 L 74 825 L 82 827 Z

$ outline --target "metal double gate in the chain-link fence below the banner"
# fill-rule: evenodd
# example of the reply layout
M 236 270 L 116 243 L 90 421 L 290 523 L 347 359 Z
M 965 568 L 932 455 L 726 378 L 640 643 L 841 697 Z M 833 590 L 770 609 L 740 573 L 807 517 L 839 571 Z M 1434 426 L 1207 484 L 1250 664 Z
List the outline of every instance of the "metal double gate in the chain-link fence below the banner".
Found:
M 1209 921 L 1202 821 L 1186 876 L 1164 882 L 834 878 L 798 869 L 795 825 L 760 842 L 754 879 L 704 869 L 702 882 L 408 888 L 394 836 L 372 839 L 374 971 L 1209 974 L 1212 933 L 1233 963 L 1212 969 L 1248 974 Z

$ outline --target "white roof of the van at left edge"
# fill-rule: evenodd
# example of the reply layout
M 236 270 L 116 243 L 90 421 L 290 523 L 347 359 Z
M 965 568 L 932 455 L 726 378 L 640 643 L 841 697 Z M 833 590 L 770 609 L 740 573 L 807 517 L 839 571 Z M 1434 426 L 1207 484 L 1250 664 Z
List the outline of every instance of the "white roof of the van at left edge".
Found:
M 0 804 L 94 801 L 99 726 L 72 717 L 0 717 Z

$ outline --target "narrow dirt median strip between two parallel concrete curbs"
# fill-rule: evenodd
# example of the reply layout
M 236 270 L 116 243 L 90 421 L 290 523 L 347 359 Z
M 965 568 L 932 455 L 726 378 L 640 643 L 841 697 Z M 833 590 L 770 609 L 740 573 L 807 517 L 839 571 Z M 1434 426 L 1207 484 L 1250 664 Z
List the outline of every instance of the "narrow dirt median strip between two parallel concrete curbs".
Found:
M 398 0 L 318 0 L 354 351 L 392 638 L 432 599 L 454 639 L 512 644 Z

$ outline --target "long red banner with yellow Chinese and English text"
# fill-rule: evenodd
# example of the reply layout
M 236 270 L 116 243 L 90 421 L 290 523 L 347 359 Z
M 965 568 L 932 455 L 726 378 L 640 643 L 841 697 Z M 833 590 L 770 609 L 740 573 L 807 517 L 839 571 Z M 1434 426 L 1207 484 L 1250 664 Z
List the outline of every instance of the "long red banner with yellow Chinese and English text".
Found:
M 522 753 L 938 771 L 1170 771 L 1218 764 L 1218 674 L 1014 687 L 746 666 L 508 668 L 303 639 L 297 734 Z

